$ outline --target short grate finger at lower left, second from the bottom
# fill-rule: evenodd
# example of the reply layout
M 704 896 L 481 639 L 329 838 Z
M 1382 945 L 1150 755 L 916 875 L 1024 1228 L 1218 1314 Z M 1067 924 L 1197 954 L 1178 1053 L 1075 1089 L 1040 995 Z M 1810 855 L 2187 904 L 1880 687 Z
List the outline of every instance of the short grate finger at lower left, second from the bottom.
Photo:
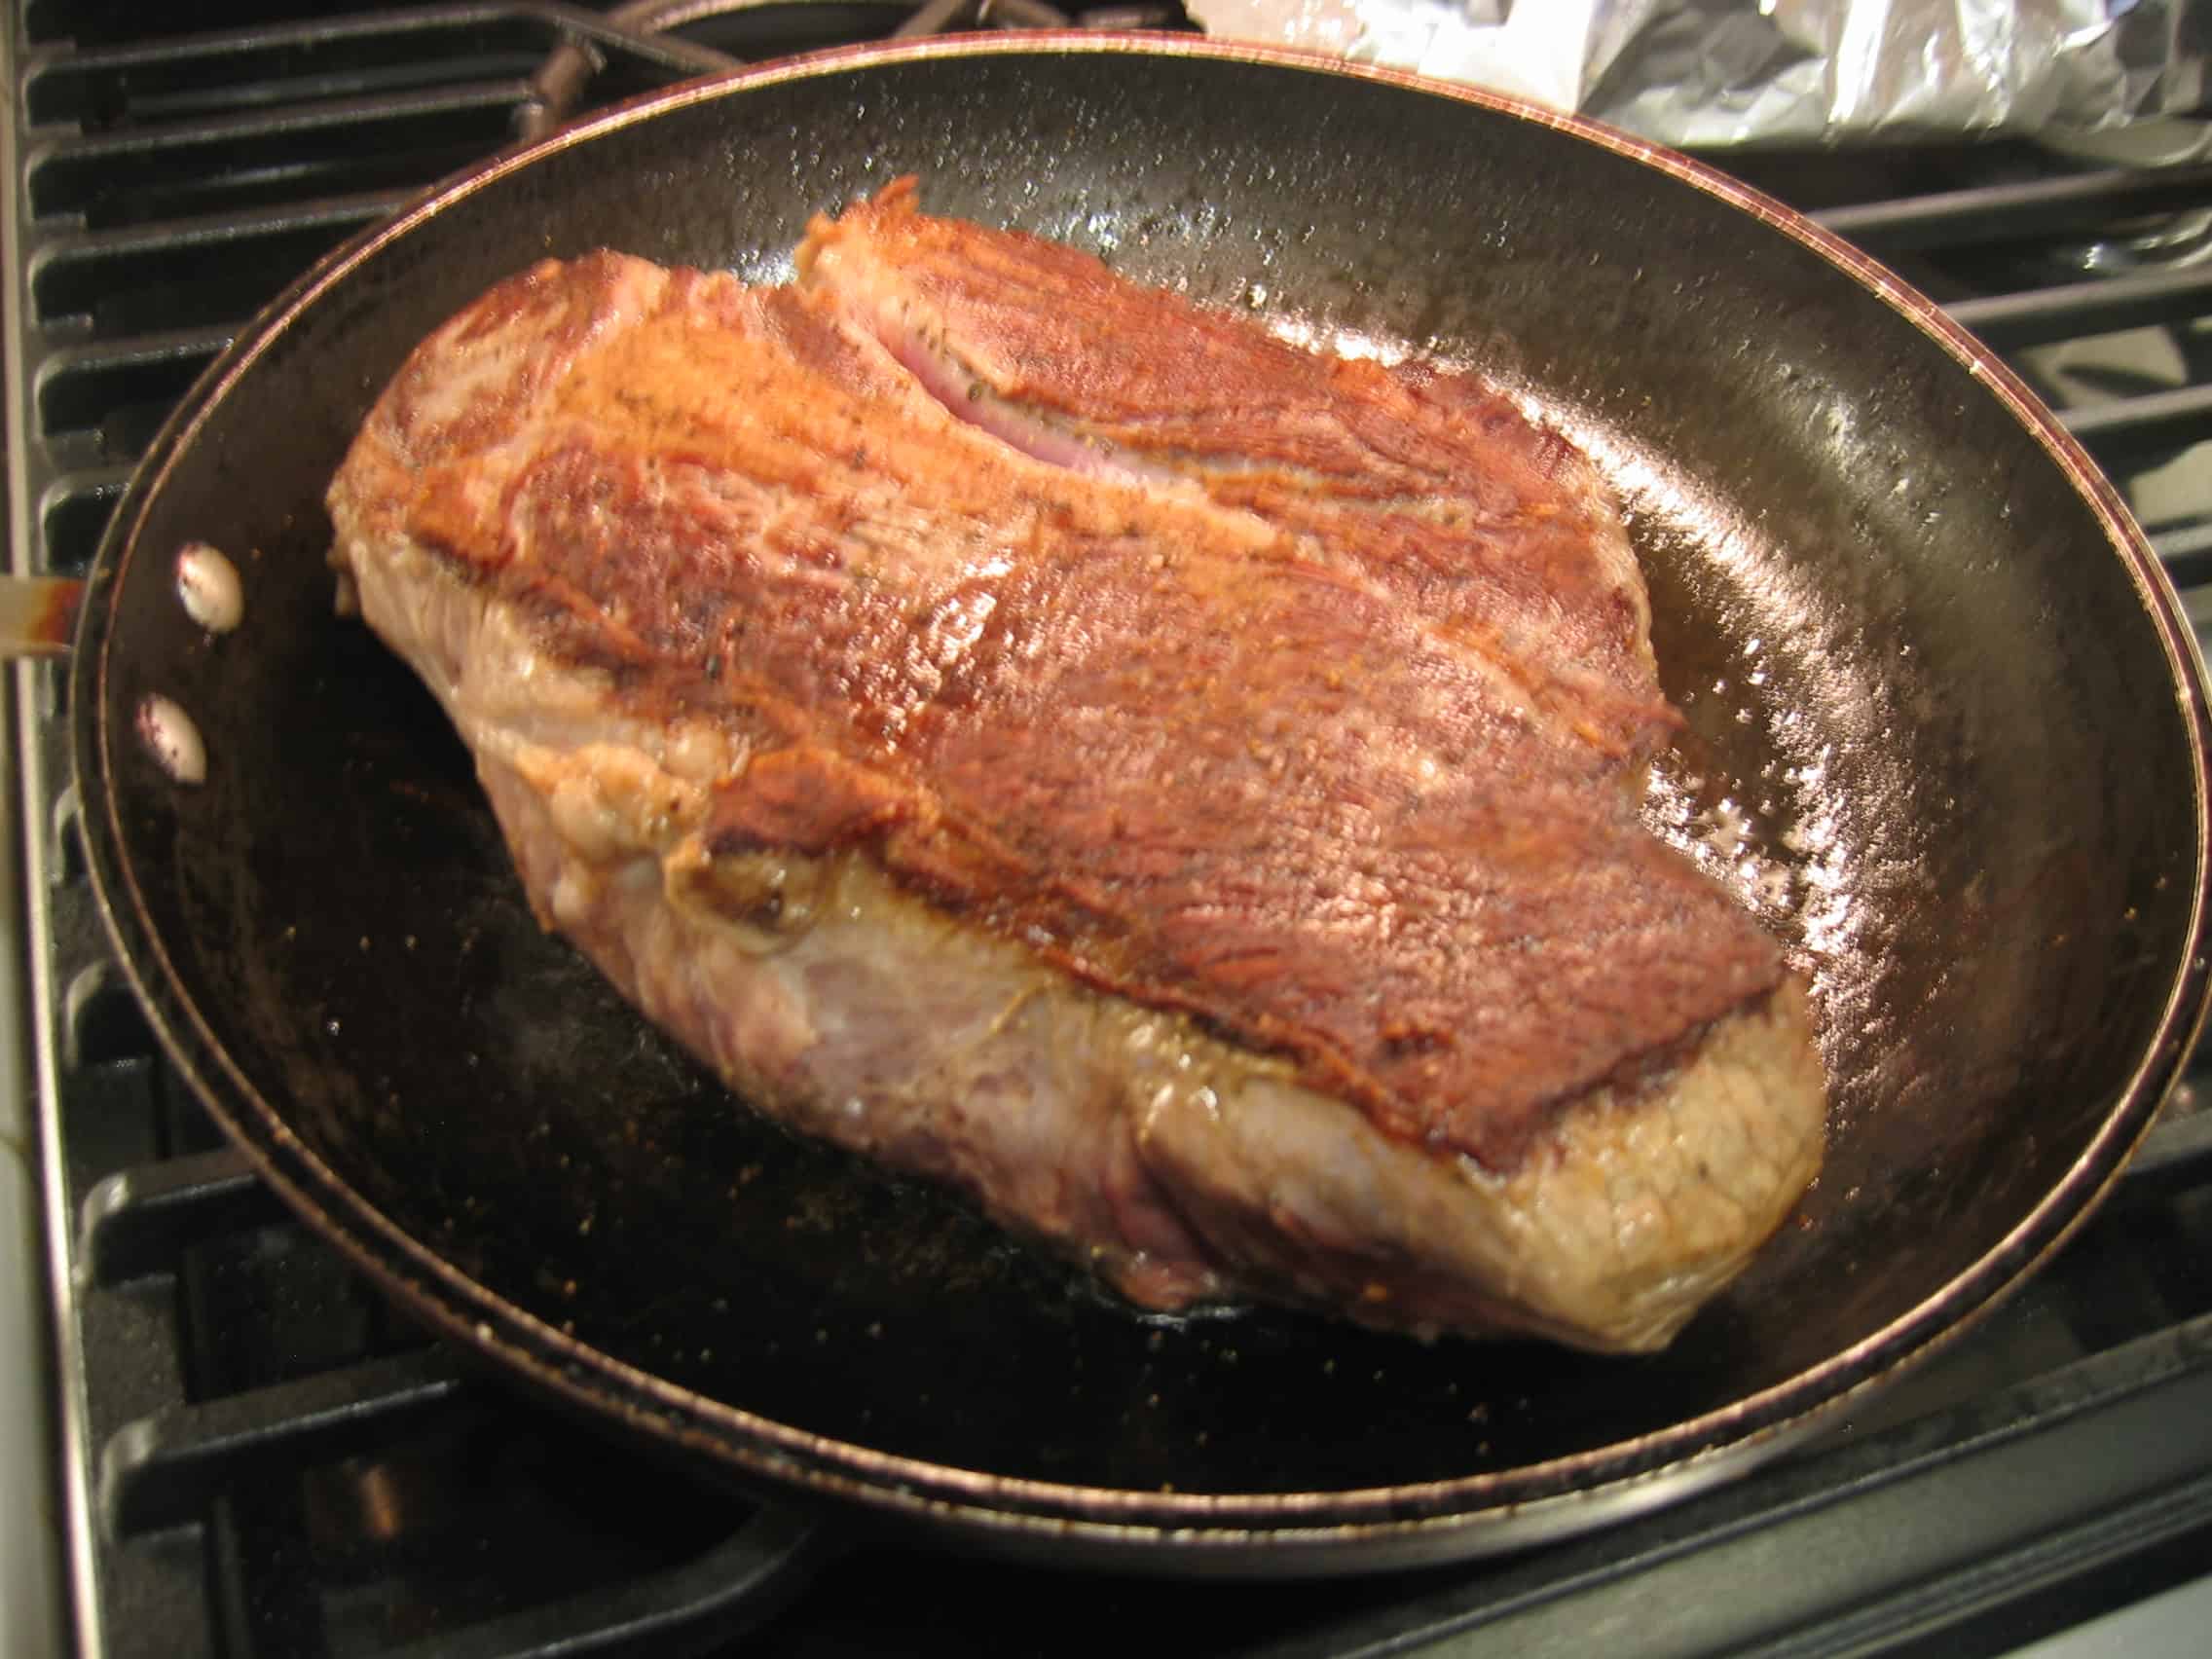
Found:
M 168 1272 L 195 1243 L 265 1228 L 288 1214 L 237 1148 L 139 1164 L 84 1194 L 77 1279 L 106 1290 Z

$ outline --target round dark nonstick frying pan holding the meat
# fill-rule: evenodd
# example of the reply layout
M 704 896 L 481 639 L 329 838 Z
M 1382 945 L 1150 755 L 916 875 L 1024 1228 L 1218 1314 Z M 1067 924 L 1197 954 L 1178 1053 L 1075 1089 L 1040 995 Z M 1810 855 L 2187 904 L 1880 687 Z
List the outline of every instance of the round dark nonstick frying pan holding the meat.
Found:
M 1829 1161 L 1666 1352 L 1146 1318 L 942 1192 L 734 1106 L 557 938 L 436 706 L 332 613 L 323 487 L 405 352 L 615 246 L 787 274 L 918 173 L 1139 279 L 1480 365 L 1621 493 L 1690 732 L 1652 823 L 1814 975 Z M 243 577 L 212 635 L 188 542 Z M 181 708 L 206 776 L 139 739 Z M 2070 438 L 1774 204 L 1498 97 L 1097 35 L 692 84 L 334 254 L 155 442 L 71 699 L 91 869 L 215 1115 L 385 1292 L 741 1484 L 1057 1559 L 1473 1555 L 1743 1469 L 1929 1352 L 2112 1181 L 2205 1000 L 2205 697 Z

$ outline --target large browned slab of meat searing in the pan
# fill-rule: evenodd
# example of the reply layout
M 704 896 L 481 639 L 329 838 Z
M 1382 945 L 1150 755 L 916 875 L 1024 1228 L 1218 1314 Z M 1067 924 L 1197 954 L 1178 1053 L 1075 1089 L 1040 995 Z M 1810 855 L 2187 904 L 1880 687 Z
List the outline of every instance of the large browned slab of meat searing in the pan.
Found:
M 332 487 L 546 920 L 1148 1305 L 1666 1340 L 1823 1102 L 1637 821 L 1674 714 L 1588 465 L 909 188 L 801 270 L 540 265 Z

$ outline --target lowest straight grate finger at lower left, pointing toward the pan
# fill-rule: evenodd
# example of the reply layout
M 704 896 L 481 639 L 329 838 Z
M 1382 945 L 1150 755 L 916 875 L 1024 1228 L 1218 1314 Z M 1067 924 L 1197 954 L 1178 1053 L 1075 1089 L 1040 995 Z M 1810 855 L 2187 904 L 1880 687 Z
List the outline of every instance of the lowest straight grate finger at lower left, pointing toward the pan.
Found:
M 442 1347 L 363 1360 L 117 1429 L 100 1451 L 100 1517 L 111 1540 L 204 1520 L 261 1471 L 341 1458 L 403 1433 L 453 1400 L 465 1374 Z

